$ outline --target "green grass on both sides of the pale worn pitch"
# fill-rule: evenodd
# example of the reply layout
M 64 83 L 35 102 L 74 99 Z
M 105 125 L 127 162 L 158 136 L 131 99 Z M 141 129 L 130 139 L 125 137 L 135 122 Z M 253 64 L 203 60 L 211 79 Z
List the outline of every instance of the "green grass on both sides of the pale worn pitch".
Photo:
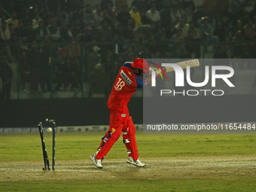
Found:
M 103 134 L 102 132 L 56 133 L 56 165 L 58 165 L 58 161 L 88 161 L 90 154 L 93 154 L 98 148 Z M 144 135 L 142 132 L 137 132 L 136 139 L 139 156 L 145 162 L 147 158 L 161 160 L 161 157 L 165 157 L 166 160 L 166 157 L 170 157 L 175 160 L 175 157 L 209 157 L 211 159 L 256 154 L 256 135 Z M 44 140 L 51 159 L 50 133 L 44 133 Z M 124 161 L 126 159 L 126 148 L 121 138 L 108 153 L 105 162 L 115 159 Z M 16 165 L 26 162 L 38 162 L 41 167 L 43 166 L 39 133 L 1 133 L 0 168 L 4 169 L 8 164 Z M 104 164 L 102 165 L 104 166 Z M 93 164 L 92 169 L 94 169 Z M 242 170 L 242 166 L 239 166 L 233 171 L 235 174 L 224 172 L 218 177 L 212 174 L 194 176 L 194 173 L 191 172 L 187 177 L 178 175 L 176 177 L 175 175 L 172 177 L 166 175 L 166 178 L 163 175 L 161 178 L 153 179 L 129 177 L 129 179 L 108 179 L 105 182 L 104 178 L 97 178 L 97 176 L 94 179 L 67 178 L 65 181 L 54 181 L 47 178 L 41 181 L 32 179 L 6 181 L 8 179 L 2 178 L 0 175 L 0 191 L 255 191 L 255 166 L 246 169 L 248 169 L 248 174 L 246 172 L 239 174 L 239 171 Z M 57 169 L 56 172 L 58 172 Z M 43 171 L 39 173 L 45 174 Z M 54 177 L 53 172 L 50 172 L 49 175 Z M 108 172 L 105 172 L 105 176 L 108 177 Z

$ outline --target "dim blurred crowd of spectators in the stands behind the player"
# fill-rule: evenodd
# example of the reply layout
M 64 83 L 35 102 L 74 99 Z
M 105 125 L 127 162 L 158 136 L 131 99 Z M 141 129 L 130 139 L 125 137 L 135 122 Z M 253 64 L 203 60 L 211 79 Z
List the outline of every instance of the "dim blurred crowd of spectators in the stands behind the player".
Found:
M 26 82 L 32 92 L 80 90 L 87 81 L 101 97 L 120 65 L 137 57 L 255 55 L 254 1 L 90 2 L 0 0 L 0 55 L 19 63 L 20 90 Z

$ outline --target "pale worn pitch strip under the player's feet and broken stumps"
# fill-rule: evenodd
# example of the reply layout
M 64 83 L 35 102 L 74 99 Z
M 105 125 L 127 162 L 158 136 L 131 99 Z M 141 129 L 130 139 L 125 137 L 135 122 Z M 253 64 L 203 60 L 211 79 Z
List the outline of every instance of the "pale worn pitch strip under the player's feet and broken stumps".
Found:
M 105 159 L 103 169 L 91 160 L 56 161 L 55 171 L 43 171 L 42 162 L 0 163 L 0 181 L 75 181 L 101 179 L 169 179 L 256 177 L 256 155 L 227 157 L 159 157 L 143 158 L 145 168 L 125 162 L 125 159 Z M 108 177 L 105 177 L 108 173 Z

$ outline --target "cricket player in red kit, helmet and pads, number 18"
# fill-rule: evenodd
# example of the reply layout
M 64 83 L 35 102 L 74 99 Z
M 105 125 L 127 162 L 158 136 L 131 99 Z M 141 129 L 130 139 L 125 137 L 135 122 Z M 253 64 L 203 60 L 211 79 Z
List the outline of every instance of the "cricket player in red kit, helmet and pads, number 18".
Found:
M 145 59 L 139 58 L 133 62 L 125 62 L 121 66 L 108 98 L 108 110 L 110 111 L 108 132 L 102 137 L 102 142 L 96 153 L 90 156 L 90 160 L 99 169 L 103 168 L 103 158 L 108 154 L 114 142 L 119 139 L 121 133 L 123 134 L 123 143 L 127 148 L 128 158 L 126 163 L 139 167 L 146 166 L 138 159 L 136 128 L 133 125 L 133 119 L 130 117 L 127 104 L 136 90 L 150 83 L 151 78 L 148 74 L 148 62 Z

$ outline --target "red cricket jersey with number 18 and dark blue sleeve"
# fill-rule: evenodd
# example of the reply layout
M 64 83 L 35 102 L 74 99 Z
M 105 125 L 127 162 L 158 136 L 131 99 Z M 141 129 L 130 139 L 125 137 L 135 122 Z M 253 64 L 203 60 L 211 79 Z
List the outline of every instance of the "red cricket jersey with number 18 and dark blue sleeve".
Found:
M 132 62 L 125 62 L 120 68 L 108 98 L 109 109 L 121 109 L 127 105 L 133 93 L 145 86 L 146 81 L 137 77 L 131 70 Z

